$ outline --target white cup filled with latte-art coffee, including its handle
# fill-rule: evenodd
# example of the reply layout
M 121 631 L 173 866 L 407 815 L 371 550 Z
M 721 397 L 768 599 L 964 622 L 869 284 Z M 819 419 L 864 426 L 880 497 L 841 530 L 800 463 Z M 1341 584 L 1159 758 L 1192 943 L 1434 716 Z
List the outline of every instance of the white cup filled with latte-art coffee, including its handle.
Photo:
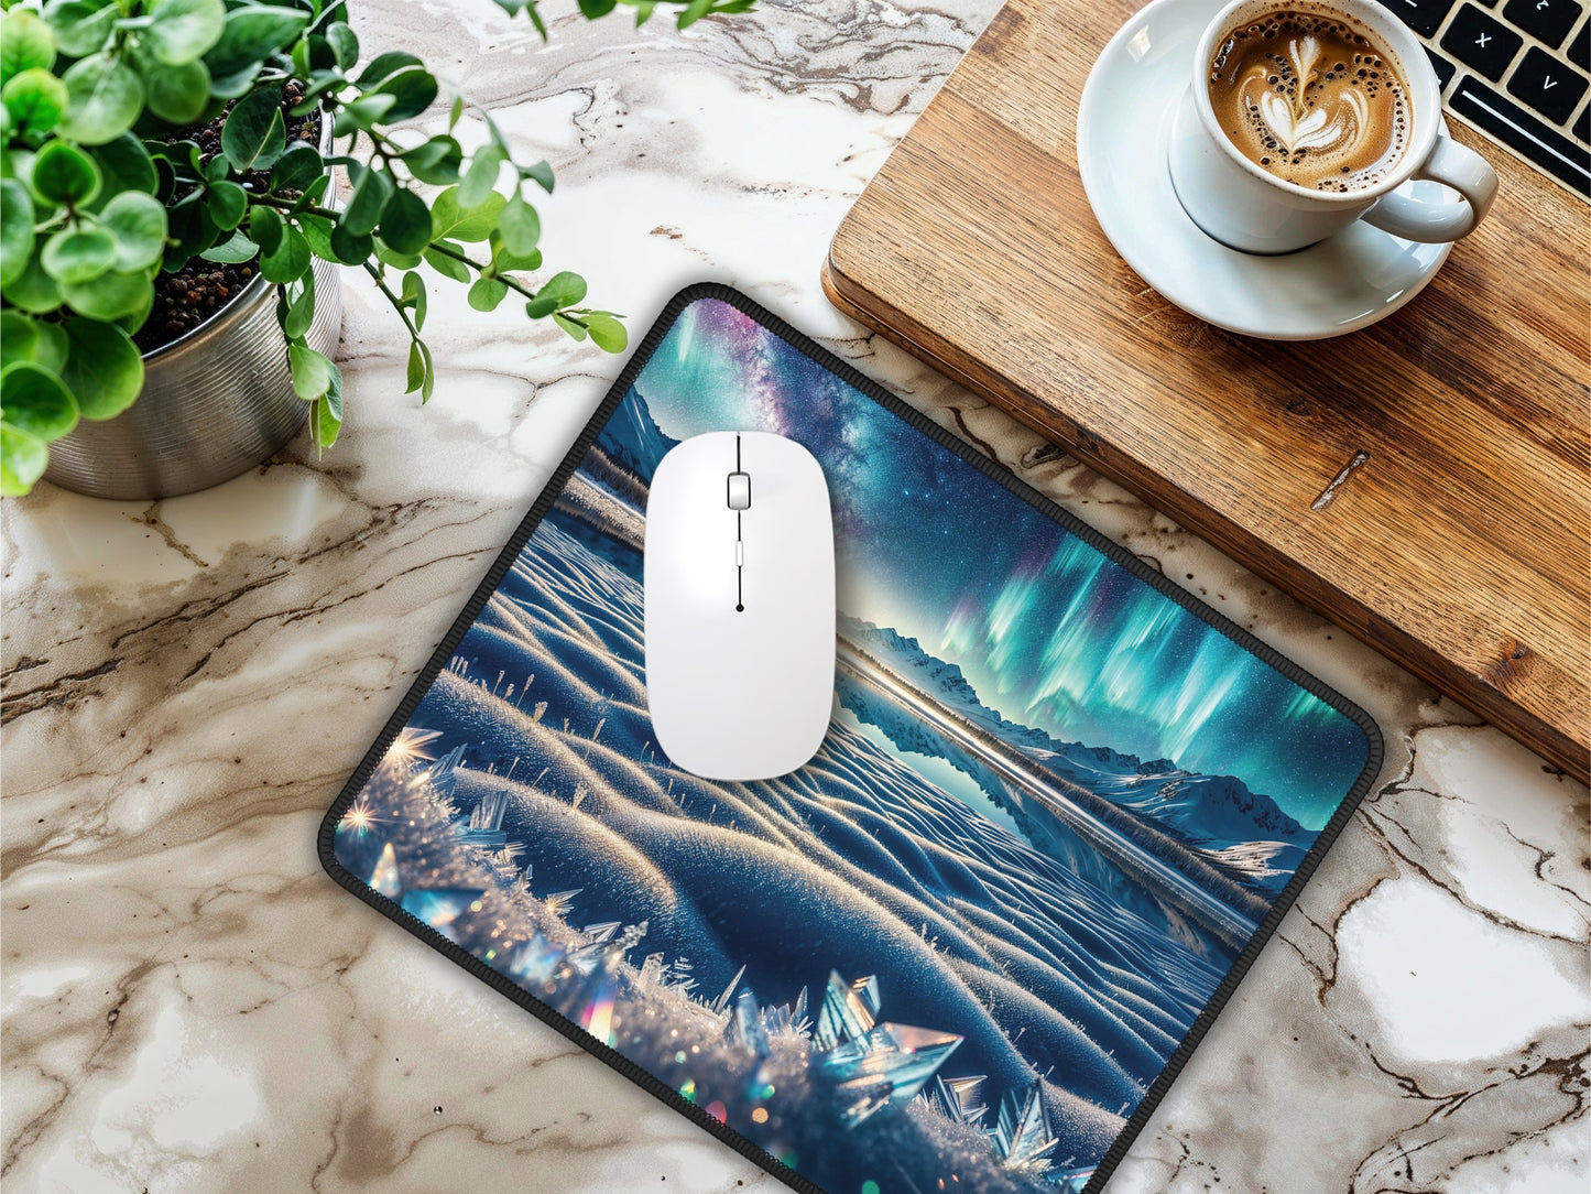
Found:
M 1298 41 L 1306 33 L 1289 41 L 1289 30 L 1316 25 L 1336 30 L 1344 41 L 1359 45 L 1363 64 L 1352 56 L 1330 54 L 1328 60 L 1317 62 L 1313 73 L 1308 62 L 1293 70 L 1298 65 Z M 1273 57 L 1257 57 L 1262 65 L 1252 81 L 1258 92 L 1268 91 L 1270 96 L 1260 94 L 1258 102 L 1249 105 L 1252 127 L 1233 118 L 1241 103 L 1223 105 L 1231 126 L 1228 131 L 1217 118 L 1211 97 L 1212 86 L 1223 86 L 1212 81 L 1219 76 L 1212 64 L 1227 60 L 1235 32 L 1241 33 L 1239 43 L 1249 49 L 1255 48 L 1251 38 L 1266 35 L 1279 45 Z M 1330 45 L 1330 38 L 1324 40 Z M 1317 51 L 1316 43 L 1308 43 L 1309 54 Z M 1308 76 L 1300 80 L 1297 75 L 1301 72 Z M 1289 81 L 1293 83 L 1290 89 Z M 1351 103 L 1333 105 L 1333 96 Z M 1367 96 L 1371 97 L 1368 108 L 1373 108 L 1368 118 Z M 1293 116 L 1287 115 L 1289 103 L 1293 105 Z M 1279 124 L 1292 119 L 1293 126 L 1287 134 L 1278 134 L 1266 127 L 1266 115 L 1276 115 L 1274 123 Z M 1321 131 L 1327 124 L 1333 129 L 1354 127 L 1356 118 L 1384 126 L 1376 129 L 1384 134 L 1376 143 L 1383 146 L 1379 156 L 1371 162 L 1344 158 L 1341 177 L 1309 174 L 1308 167 L 1322 161 L 1321 153 L 1332 151 L 1330 146 L 1316 150 L 1317 156 L 1308 158 L 1311 146 L 1327 135 Z M 1298 137 L 1303 153 L 1292 140 L 1300 129 L 1305 131 Z M 1246 148 L 1262 154 L 1268 166 L 1246 154 L 1233 137 L 1244 140 Z M 1246 139 L 1252 137 L 1260 140 L 1249 143 Z M 1303 181 L 1284 177 L 1287 170 L 1278 167 L 1266 145 L 1279 148 L 1284 164 L 1308 162 L 1303 172 L 1293 172 Z M 1173 124 L 1169 170 L 1188 218 L 1216 240 L 1244 253 L 1290 253 L 1333 236 L 1356 220 L 1405 240 L 1457 240 L 1480 224 L 1497 194 L 1497 174 L 1486 159 L 1443 132 L 1441 91 L 1424 48 L 1402 21 L 1375 0 L 1235 0 L 1222 8 L 1193 56 L 1192 86 Z M 1403 183 L 1418 178 L 1451 186 L 1464 202 L 1430 202 L 1397 194 Z

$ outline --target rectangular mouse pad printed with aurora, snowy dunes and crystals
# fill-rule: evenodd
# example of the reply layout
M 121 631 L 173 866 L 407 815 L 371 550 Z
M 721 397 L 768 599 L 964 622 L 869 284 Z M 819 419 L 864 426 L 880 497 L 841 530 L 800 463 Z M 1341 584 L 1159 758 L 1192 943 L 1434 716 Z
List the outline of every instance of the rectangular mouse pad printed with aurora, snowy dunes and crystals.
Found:
M 675 767 L 648 720 L 648 479 L 713 430 L 799 441 L 834 505 L 829 732 L 756 783 Z M 796 1189 L 1095 1191 L 1379 763 L 1341 696 L 703 285 L 320 852 Z

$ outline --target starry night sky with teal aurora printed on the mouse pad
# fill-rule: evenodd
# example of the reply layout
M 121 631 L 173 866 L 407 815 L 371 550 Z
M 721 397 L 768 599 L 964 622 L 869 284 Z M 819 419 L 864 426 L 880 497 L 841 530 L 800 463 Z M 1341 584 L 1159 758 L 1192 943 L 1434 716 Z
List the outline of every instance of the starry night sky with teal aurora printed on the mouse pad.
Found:
M 1052 737 L 1236 775 L 1319 829 L 1363 732 L 729 304 L 686 309 L 636 388 L 659 428 L 765 430 L 824 466 L 840 610 L 955 662 Z

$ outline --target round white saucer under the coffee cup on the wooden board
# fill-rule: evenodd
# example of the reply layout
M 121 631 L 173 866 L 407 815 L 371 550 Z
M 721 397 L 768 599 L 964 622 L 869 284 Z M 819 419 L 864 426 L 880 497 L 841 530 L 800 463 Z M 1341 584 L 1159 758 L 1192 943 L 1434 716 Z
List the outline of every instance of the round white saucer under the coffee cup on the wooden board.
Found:
M 1106 237 L 1171 302 L 1228 331 L 1309 341 L 1363 328 L 1414 298 L 1453 245 L 1419 245 L 1357 220 L 1284 256 L 1211 240 L 1171 189 L 1166 146 L 1193 48 L 1223 0 L 1153 0 L 1099 54 L 1077 110 L 1077 169 Z M 1144 132 L 1150 135 L 1146 139 Z M 1150 145 L 1149 153 L 1128 146 Z M 1462 202 L 1433 181 L 1398 188 Z

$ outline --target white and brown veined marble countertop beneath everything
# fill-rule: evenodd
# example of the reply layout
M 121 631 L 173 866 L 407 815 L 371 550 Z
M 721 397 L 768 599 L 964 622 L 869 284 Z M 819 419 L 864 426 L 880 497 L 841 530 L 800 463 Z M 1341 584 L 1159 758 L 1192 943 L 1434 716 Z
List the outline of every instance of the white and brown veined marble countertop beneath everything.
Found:
M 558 191 L 640 334 L 740 287 L 1365 707 L 1386 769 L 1161 1103 L 1130 1191 L 1583 1191 L 1586 790 L 840 317 L 829 237 L 994 11 L 554 22 L 371 0 Z M 16 1191 L 781 1189 L 321 871 L 315 831 L 620 360 L 433 299 L 403 396 L 348 279 L 344 441 L 208 494 L 3 506 L 3 1157 Z

